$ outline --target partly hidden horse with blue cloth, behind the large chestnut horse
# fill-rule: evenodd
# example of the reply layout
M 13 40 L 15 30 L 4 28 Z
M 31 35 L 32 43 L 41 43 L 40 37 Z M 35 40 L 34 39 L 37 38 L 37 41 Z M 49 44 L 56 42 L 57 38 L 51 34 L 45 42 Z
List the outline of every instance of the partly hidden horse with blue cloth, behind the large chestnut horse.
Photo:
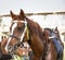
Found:
M 57 58 L 60 60 L 63 60 L 63 50 L 64 50 L 64 44 L 61 40 L 60 32 L 57 27 L 55 29 L 51 28 L 44 28 L 49 33 L 49 37 L 52 38 L 53 44 L 55 45 L 56 51 L 57 51 Z

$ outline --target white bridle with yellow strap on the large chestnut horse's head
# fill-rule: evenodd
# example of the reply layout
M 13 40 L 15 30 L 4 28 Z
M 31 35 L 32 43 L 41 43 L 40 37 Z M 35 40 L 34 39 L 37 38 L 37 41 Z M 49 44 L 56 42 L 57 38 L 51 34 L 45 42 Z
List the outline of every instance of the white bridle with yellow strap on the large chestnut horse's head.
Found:
M 9 44 L 10 44 L 12 37 L 13 37 L 13 38 L 16 38 L 16 39 L 20 39 L 20 41 L 21 41 L 20 44 L 18 44 L 18 41 L 17 41 L 13 47 L 11 47 L 12 50 L 14 50 L 14 48 L 15 48 L 15 50 L 16 50 L 17 45 L 21 45 L 21 44 L 22 44 L 25 34 L 27 34 L 27 39 L 29 38 L 29 36 L 28 36 L 28 26 L 27 26 L 27 21 L 26 21 L 26 19 L 25 19 L 25 21 L 13 21 L 13 23 L 17 23 L 17 22 L 24 23 L 24 24 L 25 24 L 25 28 L 24 28 L 24 32 L 23 32 L 23 34 L 22 34 L 22 36 L 21 36 L 20 38 L 16 37 L 16 36 L 14 36 L 14 35 L 13 35 L 13 31 L 14 31 L 14 29 L 12 31 L 12 33 L 11 33 L 11 35 L 10 35 L 10 38 L 9 38 L 9 40 L 8 40 L 8 43 L 6 43 L 5 48 L 8 48 L 8 46 L 9 46 Z M 16 46 L 16 47 L 15 47 L 15 46 Z M 13 51 L 12 51 L 12 52 L 13 52 Z

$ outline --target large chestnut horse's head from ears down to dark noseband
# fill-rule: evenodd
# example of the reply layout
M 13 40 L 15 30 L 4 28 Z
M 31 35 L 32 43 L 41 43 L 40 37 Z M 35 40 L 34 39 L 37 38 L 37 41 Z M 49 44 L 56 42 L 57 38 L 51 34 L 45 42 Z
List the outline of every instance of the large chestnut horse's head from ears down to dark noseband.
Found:
M 25 20 L 25 14 L 23 10 L 21 10 L 18 15 L 15 15 L 12 11 L 10 11 L 10 13 L 12 16 L 12 25 L 10 27 L 11 34 L 14 35 L 15 38 L 20 39 L 22 34 L 25 35 L 25 32 L 27 28 L 27 22 Z

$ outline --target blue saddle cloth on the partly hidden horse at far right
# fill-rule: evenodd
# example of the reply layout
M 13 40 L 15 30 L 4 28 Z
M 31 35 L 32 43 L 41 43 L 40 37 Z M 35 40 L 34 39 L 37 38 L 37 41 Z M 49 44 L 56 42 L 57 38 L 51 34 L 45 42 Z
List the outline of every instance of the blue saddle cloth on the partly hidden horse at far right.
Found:
M 60 41 L 60 39 L 56 38 L 56 34 L 54 32 L 50 33 L 51 36 L 54 36 L 52 38 L 53 44 L 55 45 L 57 53 L 63 52 L 63 46 Z

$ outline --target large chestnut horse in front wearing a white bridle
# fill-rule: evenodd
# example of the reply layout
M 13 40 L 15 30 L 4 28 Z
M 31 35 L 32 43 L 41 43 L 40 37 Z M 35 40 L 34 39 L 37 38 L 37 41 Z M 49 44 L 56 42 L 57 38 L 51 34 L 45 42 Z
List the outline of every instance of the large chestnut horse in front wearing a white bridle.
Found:
M 11 41 L 13 39 L 18 40 L 16 45 L 27 41 L 34 52 L 31 60 L 57 60 L 55 46 L 48 37 L 48 33 L 43 32 L 38 23 L 28 19 L 22 9 L 18 15 L 12 11 L 10 13 L 13 22 L 10 27 Z M 15 27 L 12 28 L 14 25 Z

